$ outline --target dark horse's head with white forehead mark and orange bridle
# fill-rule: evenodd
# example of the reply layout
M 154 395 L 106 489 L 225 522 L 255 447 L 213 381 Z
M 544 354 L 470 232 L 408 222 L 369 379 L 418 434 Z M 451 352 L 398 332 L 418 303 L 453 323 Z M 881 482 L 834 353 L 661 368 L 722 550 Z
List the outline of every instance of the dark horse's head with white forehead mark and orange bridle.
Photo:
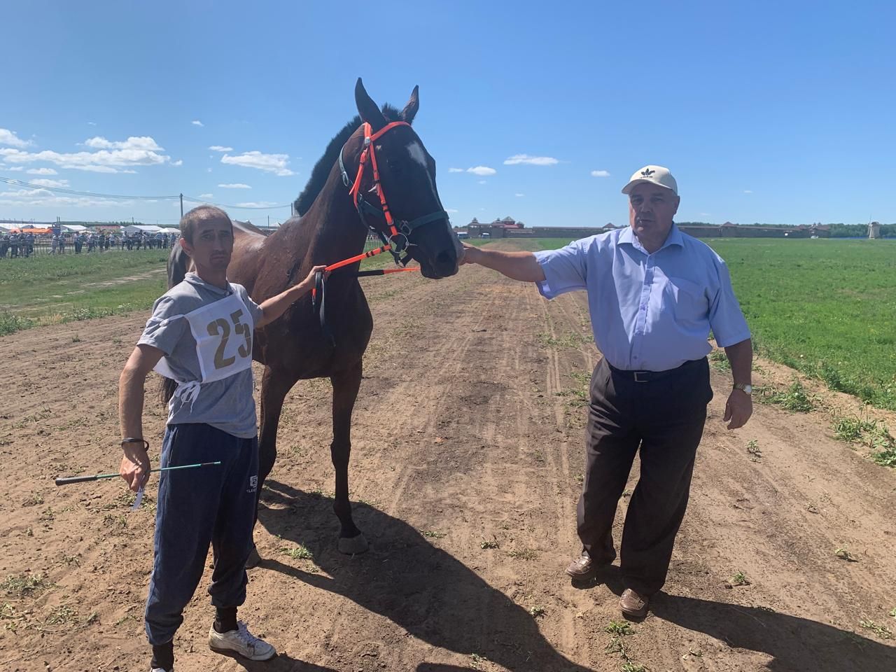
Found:
M 426 278 L 454 275 L 461 242 L 435 188 L 435 159 L 410 127 L 420 105 L 418 88 L 414 87 L 398 123 L 390 124 L 383 116 L 360 79 L 355 101 L 365 125 L 346 142 L 345 168 L 349 172 L 344 175 L 348 182 L 349 166 L 359 166 L 352 196 L 362 219 L 390 238 L 393 249 L 398 248 L 396 252 L 406 245 L 407 253 L 418 261 Z M 369 149 L 366 135 L 370 137 Z

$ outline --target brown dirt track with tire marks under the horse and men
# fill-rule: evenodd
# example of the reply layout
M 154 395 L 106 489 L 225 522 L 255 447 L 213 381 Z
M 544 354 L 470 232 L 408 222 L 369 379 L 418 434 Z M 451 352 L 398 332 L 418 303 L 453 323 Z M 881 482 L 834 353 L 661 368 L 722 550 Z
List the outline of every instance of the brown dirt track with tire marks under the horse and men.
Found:
M 178 672 L 896 669 L 894 640 L 860 625 L 896 631 L 896 471 L 835 441 L 822 412 L 757 405 L 728 432 L 717 372 L 669 581 L 613 642 L 618 573 L 585 588 L 563 574 L 579 549 L 582 392 L 599 361 L 584 296 L 548 303 L 478 267 L 439 282 L 408 275 L 365 280 L 376 326 L 349 483 L 370 552 L 336 550 L 329 383 L 300 383 L 263 494 L 265 561 L 240 612 L 280 657 L 211 653 L 198 590 Z M 0 339 L 16 353 L 0 369 L 0 580 L 12 577 L 0 670 L 147 668 L 155 482 L 135 513 L 118 480 L 52 482 L 116 470 L 117 376 L 144 320 Z M 155 451 L 163 423 L 148 401 Z M 289 555 L 298 544 L 313 559 Z M 737 572 L 749 584 L 727 588 Z

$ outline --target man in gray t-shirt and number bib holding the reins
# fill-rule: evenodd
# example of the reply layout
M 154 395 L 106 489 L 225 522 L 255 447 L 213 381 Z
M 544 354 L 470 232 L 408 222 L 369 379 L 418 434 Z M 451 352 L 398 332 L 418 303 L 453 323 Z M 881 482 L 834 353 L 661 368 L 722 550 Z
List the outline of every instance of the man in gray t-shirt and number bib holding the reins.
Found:
M 151 672 L 171 672 L 174 635 L 199 581 L 209 543 L 214 573 L 209 594 L 216 616 L 212 650 L 251 660 L 276 655 L 271 644 L 237 621 L 246 600 L 246 559 L 253 549 L 258 436 L 252 396 L 255 329 L 286 312 L 314 287 L 315 266 L 305 280 L 276 297 L 254 303 L 227 280 L 233 224 L 209 205 L 180 222 L 180 245 L 195 272 L 159 297 L 119 380 L 122 450 L 120 473 L 139 491 L 150 476 L 149 443 L 143 439 L 143 383 L 155 369 L 177 383 L 168 409 L 161 466 L 207 464 L 166 470 L 159 478 L 155 559 L 146 603 Z

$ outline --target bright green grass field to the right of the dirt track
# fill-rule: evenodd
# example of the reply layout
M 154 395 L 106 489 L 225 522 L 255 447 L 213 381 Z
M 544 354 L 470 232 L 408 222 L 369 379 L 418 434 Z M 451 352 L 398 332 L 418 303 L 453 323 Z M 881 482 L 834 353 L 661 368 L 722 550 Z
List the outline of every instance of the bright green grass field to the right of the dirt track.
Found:
M 708 239 L 762 356 L 896 410 L 896 241 Z M 566 238 L 526 241 L 556 249 Z

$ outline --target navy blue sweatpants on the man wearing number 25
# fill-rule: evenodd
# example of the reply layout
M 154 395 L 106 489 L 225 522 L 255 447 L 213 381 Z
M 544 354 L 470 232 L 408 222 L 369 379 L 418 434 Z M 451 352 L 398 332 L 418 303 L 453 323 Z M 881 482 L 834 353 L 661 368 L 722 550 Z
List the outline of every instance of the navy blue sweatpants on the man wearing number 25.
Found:
M 156 508 L 155 562 L 146 601 L 146 634 L 159 646 L 174 639 L 184 607 L 214 550 L 211 604 L 246 601 L 258 487 L 258 437 L 242 439 L 210 425 L 168 425 L 162 467 L 220 461 L 214 467 L 162 471 Z

